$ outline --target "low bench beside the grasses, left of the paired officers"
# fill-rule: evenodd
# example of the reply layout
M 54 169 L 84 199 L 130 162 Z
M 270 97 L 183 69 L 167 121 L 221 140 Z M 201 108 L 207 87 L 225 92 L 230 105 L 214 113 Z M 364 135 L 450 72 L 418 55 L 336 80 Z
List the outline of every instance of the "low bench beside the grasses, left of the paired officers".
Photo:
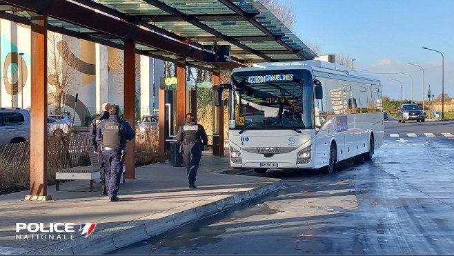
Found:
M 69 179 L 69 180 L 90 180 L 90 192 L 93 191 L 93 183 L 95 183 L 95 179 L 99 179 L 101 177 L 101 166 L 99 166 L 99 159 L 98 155 L 91 150 L 88 152 L 90 156 L 90 164 L 91 166 L 75 166 L 72 168 L 66 168 L 63 170 L 57 171 L 55 173 L 55 190 L 59 190 L 59 180 L 60 179 Z M 123 182 L 125 183 L 124 172 L 126 168 L 123 168 Z

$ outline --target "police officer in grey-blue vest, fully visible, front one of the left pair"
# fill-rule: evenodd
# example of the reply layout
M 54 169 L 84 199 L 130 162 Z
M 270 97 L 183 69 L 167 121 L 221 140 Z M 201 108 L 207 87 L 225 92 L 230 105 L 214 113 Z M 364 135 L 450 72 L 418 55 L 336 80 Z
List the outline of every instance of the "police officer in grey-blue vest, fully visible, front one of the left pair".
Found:
M 126 140 L 134 139 L 135 131 L 127 121 L 120 119 L 118 105 L 110 106 L 109 113 L 109 119 L 99 124 L 96 137 L 101 140 L 101 150 L 106 163 L 106 189 L 109 199 L 119 201 L 117 193 L 126 157 Z

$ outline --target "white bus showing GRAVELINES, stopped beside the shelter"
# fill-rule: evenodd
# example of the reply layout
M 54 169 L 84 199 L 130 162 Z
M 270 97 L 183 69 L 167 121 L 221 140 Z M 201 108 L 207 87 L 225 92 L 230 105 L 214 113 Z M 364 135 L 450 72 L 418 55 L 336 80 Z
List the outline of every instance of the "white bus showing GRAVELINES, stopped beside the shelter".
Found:
M 257 63 L 235 68 L 230 84 L 230 166 L 316 169 L 338 161 L 371 160 L 382 146 L 382 86 L 378 79 L 325 61 Z

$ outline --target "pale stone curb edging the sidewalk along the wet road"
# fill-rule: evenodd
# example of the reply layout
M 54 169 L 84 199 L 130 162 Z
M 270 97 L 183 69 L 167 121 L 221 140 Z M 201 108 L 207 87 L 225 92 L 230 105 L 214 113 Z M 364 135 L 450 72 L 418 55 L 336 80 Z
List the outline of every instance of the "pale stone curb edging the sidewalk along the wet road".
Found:
M 205 200 L 164 210 L 119 224 L 112 228 L 99 230 L 90 237 L 79 236 L 45 248 L 31 250 L 23 255 L 94 255 L 110 253 L 118 248 L 140 242 L 144 239 L 166 233 L 180 226 L 198 221 L 204 217 L 222 213 L 239 204 L 244 204 L 284 188 L 280 179 L 261 181 L 263 186 L 246 190 L 237 188 L 226 195 L 216 195 Z

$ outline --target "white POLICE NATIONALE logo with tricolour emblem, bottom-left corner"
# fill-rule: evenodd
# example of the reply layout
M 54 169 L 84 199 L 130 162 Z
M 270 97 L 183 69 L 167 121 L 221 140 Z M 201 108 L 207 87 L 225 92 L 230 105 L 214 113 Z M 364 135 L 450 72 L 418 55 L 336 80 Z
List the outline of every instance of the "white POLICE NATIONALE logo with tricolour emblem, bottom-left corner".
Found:
M 79 231 L 85 237 L 95 231 L 96 223 L 81 223 Z M 49 223 L 31 222 L 16 223 L 17 240 L 74 240 L 76 239 L 75 223 Z M 23 234 L 26 233 L 26 234 Z

